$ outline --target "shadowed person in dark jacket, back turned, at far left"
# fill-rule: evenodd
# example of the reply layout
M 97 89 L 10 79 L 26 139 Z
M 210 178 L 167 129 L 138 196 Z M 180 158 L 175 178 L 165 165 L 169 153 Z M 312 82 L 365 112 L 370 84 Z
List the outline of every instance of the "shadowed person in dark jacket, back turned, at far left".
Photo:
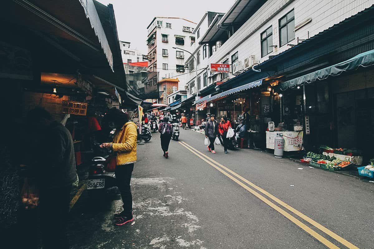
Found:
M 43 108 L 27 115 L 30 132 L 36 133 L 43 155 L 34 155 L 33 172 L 39 189 L 40 229 L 43 248 L 68 249 L 67 221 L 70 192 L 77 180 L 73 138 L 64 125 Z

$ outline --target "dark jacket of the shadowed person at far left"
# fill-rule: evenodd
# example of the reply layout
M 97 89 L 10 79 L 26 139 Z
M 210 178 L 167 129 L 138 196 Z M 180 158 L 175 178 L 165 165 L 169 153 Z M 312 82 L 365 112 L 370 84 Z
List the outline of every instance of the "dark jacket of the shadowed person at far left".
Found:
M 54 122 L 45 130 L 39 177 L 42 187 L 64 187 L 77 180 L 73 138 L 62 124 Z

